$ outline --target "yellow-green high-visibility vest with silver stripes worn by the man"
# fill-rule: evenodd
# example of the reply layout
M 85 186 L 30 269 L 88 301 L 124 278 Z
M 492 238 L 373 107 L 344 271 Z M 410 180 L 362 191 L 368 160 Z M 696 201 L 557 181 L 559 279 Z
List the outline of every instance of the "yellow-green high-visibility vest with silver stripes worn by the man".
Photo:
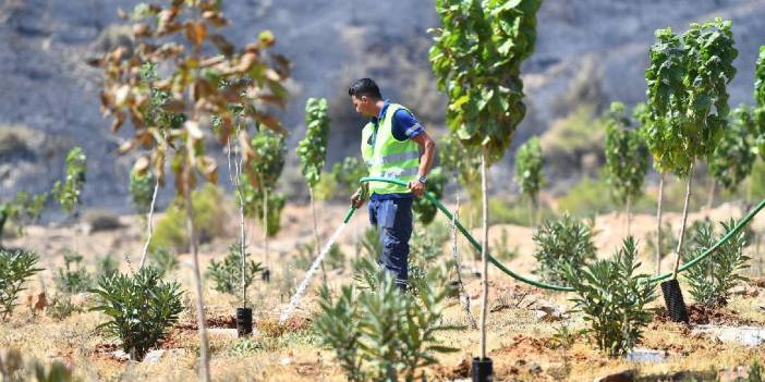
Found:
M 403 182 L 416 177 L 420 168 L 420 146 L 412 139 L 398 140 L 393 136 L 393 115 L 398 110 L 406 110 L 397 103 L 389 103 L 381 121 L 378 121 L 375 146 L 371 145 L 375 124 L 369 122 L 362 131 L 362 157 L 371 176 L 397 178 Z M 369 182 L 369 193 L 409 193 L 405 186 Z

